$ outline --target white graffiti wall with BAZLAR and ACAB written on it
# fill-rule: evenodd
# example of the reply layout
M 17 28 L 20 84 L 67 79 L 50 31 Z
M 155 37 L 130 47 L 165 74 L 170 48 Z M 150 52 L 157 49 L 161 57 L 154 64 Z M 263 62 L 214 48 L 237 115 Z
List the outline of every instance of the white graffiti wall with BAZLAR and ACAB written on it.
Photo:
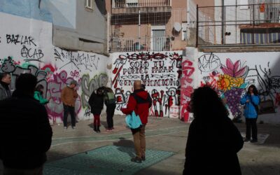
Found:
M 0 19 L 0 72 L 12 74 L 12 90 L 20 73 L 33 73 L 50 99 L 46 105 L 50 121 L 61 123 L 60 92 L 71 80 L 77 80 L 77 120 L 92 118 L 87 99 L 98 87 L 111 85 L 109 57 L 55 47 L 51 22 L 8 13 L 0 13 Z

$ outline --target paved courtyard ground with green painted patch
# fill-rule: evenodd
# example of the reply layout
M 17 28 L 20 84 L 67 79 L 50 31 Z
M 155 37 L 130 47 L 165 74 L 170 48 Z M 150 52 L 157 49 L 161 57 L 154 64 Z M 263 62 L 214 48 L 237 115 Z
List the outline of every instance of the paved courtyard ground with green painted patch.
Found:
M 106 117 L 101 120 L 99 134 L 93 132 L 92 120 L 79 121 L 76 130 L 52 126 L 45 174 L 182 174 L 189 124 L 150 117 L 146 127 L 149 153 L 146 162 L 139 165 L 130 162 L 134 151 L 125 117 L 114 117 L 113 132 L 106 132 Z M 244 135 L 245 124 L 236 125 Z M 258 133 L 258 143 L 245 143 L 238 154 L 242 173 L 280 174 L 280 125 L 258 124 Z

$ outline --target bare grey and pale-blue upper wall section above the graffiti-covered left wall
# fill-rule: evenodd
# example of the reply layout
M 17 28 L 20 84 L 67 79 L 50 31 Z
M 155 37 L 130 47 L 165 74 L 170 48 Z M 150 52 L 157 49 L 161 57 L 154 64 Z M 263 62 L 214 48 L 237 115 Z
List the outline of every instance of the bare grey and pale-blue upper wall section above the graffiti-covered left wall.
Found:
M 42 6 L 52 13 L 55 46 L 107 54 L 105 1 L 92 1 L 92 9 L 85 0 L 45 0 Z

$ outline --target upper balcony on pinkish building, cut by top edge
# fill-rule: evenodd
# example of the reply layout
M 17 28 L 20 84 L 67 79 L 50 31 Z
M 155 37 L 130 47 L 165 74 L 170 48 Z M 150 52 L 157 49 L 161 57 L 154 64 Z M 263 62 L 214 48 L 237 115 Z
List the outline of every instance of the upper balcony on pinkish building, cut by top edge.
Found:
M 112 14 L 165 13 L 171 12 L 172 0 L 115 0 Z

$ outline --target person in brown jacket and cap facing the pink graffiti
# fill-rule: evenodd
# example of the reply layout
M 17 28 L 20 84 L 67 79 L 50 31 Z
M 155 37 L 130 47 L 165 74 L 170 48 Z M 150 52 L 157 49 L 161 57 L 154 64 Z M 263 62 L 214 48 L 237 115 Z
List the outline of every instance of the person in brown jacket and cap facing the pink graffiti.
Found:
M 70 85 L 67 85 L 62 89 L 62 93 L 60 98 L 62 99 L 63 103 L 63 125 L 64 130 L 67 130 L 67 117 L 68 113 L 70 113 L 71 116 L 71 126 L 72 129 L 76 129 L 76 117 L 75 117 L 75 102 L 78 97 L 77 90 L 75 90 L 75 87 L 78 85 L 76 80 L 71 80 Z

